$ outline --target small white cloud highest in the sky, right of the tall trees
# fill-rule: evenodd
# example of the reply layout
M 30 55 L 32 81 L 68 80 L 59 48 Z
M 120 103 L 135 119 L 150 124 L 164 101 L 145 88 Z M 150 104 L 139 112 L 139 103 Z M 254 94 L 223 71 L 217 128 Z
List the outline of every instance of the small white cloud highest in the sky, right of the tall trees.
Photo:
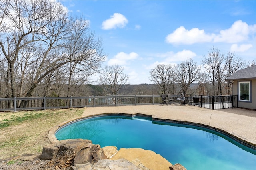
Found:
M 112 28 L 124 28 L 128 20 L 120 13 L 114 13 L 109 19 L 102 22 L 102 29 L 109 30 Z

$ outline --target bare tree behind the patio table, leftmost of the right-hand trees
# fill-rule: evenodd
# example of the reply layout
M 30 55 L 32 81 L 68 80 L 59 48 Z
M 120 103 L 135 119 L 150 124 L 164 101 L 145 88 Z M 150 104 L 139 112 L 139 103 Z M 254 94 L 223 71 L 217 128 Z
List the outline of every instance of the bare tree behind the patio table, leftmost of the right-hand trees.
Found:
M 170 93 L 170 89 L 172 89 L 171 85 L 174 86 L 175 82 L 172 81 L 173 71 L 174 69 L 170 64 L 158 64 L 155 68 L 150 70 L 149 79 L 156 83 L 160 89 L 160 94 Z

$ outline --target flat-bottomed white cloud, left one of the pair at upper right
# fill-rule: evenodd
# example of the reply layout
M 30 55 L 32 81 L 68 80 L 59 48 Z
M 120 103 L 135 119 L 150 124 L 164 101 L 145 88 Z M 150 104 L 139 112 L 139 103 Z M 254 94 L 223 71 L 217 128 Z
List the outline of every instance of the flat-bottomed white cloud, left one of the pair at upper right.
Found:
M 180 26 L 174 32 L 166 36 L 166 42 L 190 45 L 200 42 L 210 42 L 212 38 L 213 35 L 207 35 L 204 30 L 199 30 L 198 28 L 186 30 L 183 26 Z

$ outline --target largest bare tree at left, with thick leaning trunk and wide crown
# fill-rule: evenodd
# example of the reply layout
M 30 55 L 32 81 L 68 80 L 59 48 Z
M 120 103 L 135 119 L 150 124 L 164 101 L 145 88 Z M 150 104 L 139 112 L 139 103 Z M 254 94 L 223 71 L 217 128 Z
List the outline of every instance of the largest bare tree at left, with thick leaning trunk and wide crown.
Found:
M 11 97 L 32 96 L 38 84 L 60 67 L 75 68 L 70 77 L 79 71 L 86 77 L 98 72 L 104 61 L 101 40 L 94 38 L 85 20 L 70 17 L 59 2 L 1 1 L 0 14 L 0 48 L 8 62 Z

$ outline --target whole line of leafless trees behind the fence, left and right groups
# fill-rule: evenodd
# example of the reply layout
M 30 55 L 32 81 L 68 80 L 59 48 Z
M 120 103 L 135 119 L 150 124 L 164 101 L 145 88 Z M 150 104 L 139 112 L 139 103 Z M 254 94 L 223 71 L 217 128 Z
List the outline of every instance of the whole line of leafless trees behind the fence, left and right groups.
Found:
M 121 66 L 102 69 L 102 40 L 84 17 L 72 16 L 56 1 L 0 2 L 0 97 L 118 95 L 128 87 L 129 77 Z M 225 78 L 246 67 L 234 52 L 223 55 L 214 47 L 202 63 L 186 59 L 177 65 L 157 65 L 150 70 L 155 85 L 148 91 L 146 85 L 136 86 L 132 93 L 226 95 L 232 83 Z M 100 71 L 99 85 L 90 85 L 90 76 Z

